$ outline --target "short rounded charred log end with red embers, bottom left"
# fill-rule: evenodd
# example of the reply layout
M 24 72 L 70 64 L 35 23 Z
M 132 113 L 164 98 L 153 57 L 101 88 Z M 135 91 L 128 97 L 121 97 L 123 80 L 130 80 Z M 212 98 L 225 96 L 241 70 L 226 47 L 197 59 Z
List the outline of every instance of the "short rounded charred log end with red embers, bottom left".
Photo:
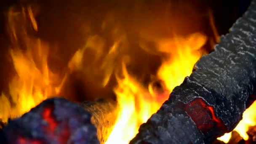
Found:
M 0 132 L 1 144 L 99 144 L 91 114 L 62 98 L 47 99 Z

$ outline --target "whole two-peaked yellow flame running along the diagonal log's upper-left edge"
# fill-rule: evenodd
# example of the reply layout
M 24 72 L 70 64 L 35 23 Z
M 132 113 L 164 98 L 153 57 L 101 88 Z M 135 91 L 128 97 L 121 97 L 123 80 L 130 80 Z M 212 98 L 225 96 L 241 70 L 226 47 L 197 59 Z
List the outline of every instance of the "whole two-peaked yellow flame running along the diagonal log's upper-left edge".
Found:
M 173 39 L 157 42 L 158 51 L 168 53 L 158 71 L 158 77 L 166 84 L 163 93 L 152 93 L 152 87 L 144 88 L 139 80 L 128 74 L 123 64 L 123 77 L 117 76 L 118 85 L 114 89 L 118 102 L 118 117 L 105 144 L 128 144 L 138 133 L 139 126 L 157 112 L 175 86 L 192 73 L 195 62 L 202 56 L 199 49 L 206 42 L 203 34 L 195 33 L 188 37 L 176 36 Z

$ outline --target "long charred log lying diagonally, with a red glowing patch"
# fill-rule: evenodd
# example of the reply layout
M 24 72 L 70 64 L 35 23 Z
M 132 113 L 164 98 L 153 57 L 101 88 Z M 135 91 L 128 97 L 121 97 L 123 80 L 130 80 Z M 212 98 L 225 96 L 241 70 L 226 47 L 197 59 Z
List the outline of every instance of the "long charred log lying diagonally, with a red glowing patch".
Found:
M 256 0 L 131 144 L 211 143 L 232 131 L 256 87 Z

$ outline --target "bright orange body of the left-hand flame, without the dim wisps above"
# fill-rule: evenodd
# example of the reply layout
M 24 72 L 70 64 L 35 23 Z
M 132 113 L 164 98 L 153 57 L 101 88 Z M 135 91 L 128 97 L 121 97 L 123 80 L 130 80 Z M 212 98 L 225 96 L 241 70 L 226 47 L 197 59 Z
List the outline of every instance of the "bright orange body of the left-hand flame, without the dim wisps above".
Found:
M 37 42 L 40 45 L 40 41 Z M 4 93 L 1 96 L 0 111 L 5 113 L 0 113 L 0 118 L 3 121 L 24 114 L 46 99 L 48 95 L 53 94 L 46 56 L 41 57 L 40 62 L 42 62 L 42 65 L 39 65 L 32 59 L 32 53 L 29 49 L 27 49 L 26 53 L 18 48 L 12 49 L 10 54 L 16 70 L 16 76 L 9 83 L 11 101 L 7 99 Z M 42 68 L 39 69 L 39 66 L 42 66 Z M 12 105 L 11 102 L 13 103 Z M 8 107 L 8 110 L 5 107 Z

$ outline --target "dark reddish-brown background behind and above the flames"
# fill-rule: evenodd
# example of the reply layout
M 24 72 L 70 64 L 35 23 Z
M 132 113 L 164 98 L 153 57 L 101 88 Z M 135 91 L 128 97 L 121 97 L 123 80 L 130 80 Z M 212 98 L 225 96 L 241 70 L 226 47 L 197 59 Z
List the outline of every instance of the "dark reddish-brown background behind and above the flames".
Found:
M 16 0 L 0 2 L 1 91 L 7 91 L 8 82 L 15 74 L 8 57 L 10 42 L 5 30 L 4 13 L 10 6 L 18 3 L 20 1 Z M 213 37 L 208 21 L 208 10 L 211 9 L 219 35 L 223 35 L 246 11 L 250 0 L 141 0 L 139 3 L 136 0 L 22 0 L 22 3 L 40 5 L 40 13 L 36 16 L 38 35 L 43 40 L 58 45 L 58 49 L 50 49 L 51 55 L 48 59 L 49 67 L 54 72 L 61 73 L 66 70 L 69 59 L 83 46 L 86 37 L 91 33 L 106 37 L 111 44 L 109 32 L 115 24 L 110 26 L 109 31 L 100 30 L 102 20 L 110 11 L 114 13 L 115 21 L 128 33 L 133 48 L 129 53 L 134 56 L 133 61 L 136 62 L 131 71 L 137 73 L 138 77 L 144 77 L 143 73 L 155 73 L 161 60 L 159 56 L 148 55 L 138 49 L 138 29 L 157 37 L 166 37 L 171 32 L 187 35 L 197 31 Z M 168 15 L 165 14 L 166 11 Z M 91 33 L 84 31 L 85 26 L 91 28 Z M 110 83 L 109 88 L 102 89 L 97 85 L 97 79 L 92 77 L 74 76 L 74 80 L 66 86 L 72 87 L 72 91 L 65 91 L 63 95 L 74 101 L 113 95 L 112 85 L 115 82 Z

